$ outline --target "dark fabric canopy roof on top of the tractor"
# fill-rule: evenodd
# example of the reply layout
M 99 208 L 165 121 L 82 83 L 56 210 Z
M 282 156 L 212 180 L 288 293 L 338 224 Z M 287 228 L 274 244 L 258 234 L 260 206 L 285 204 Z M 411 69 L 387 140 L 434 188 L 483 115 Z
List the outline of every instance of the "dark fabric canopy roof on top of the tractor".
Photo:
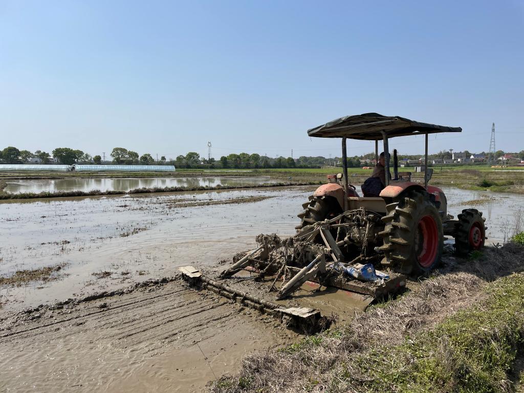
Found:
M 383 116 L 378 113 L 344 116 L 308 130 L 309 136 L 319 138 L 350 138 L 379 140 L 386 133 L 388 138 L 435 133 L 460 133 L 461 127 L 446 127 L 416 122 L 400 116 Z

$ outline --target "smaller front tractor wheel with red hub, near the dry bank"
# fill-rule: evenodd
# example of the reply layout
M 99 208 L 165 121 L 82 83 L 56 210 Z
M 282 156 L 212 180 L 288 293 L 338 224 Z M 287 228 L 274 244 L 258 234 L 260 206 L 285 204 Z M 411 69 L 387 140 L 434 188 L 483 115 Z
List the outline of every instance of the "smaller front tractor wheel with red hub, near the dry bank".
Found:
M 464 209 L 457 217 L 455 223 L 455 253 L 460 256 L 466 256 L 474 250 L 484 247 L 486 240 L 486 219 L 482 212 L 476 209 Z

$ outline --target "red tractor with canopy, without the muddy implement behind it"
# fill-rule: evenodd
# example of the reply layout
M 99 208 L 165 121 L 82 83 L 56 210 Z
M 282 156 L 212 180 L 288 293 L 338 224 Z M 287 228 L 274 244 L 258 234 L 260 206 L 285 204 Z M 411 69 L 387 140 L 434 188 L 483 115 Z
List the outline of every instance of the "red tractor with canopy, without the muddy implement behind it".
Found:
M 329 183 L 321 185 L 302 206 L 304 211 L 297 227 L 304 228 L 344 214 L 342 225 L 333 229 L 345 260 L 365 255 L 375 257 L 403 274 L 428 272 L 439 264 L 444 236 L 455 238 L 455 250 L 467 255 L 484 246 L 485 219 L 476 209 L 465 209 L 455 220 L 447 213 L 444 192 L 428 185 L 433 170 L 428 167 L 428 135 L 458 133 L 460 127 L 420 123 L 399 116 L 377 113 L 345 116 L 308 130 L 310 137 L 342 138 L 343 173 L 328 176 Z M 393 151 L 391 175 L 389 139 L 422 135 L 425 138 L 424 179 L 411 181 L 411 172 L 399 172 L 397 150 Z M 378 141 L 384 145 L 385 187 L 378 196 L 359 196 L 347 177 L 347 139 L 374 140 L 378 162 Z M 364 211 L 365 216 L 348 212 Z M 342 240 L 345 239 L 345 242 Z

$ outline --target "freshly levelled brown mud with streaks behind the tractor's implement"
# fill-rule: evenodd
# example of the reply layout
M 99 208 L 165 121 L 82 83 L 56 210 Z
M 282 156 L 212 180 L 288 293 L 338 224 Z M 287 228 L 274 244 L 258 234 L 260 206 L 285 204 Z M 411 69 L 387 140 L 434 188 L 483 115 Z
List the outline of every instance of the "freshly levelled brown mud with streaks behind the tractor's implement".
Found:
M 0 391 L 199 391 L 247 352 L 293 339 L 180 280 L 7 313 L 0 329 Z

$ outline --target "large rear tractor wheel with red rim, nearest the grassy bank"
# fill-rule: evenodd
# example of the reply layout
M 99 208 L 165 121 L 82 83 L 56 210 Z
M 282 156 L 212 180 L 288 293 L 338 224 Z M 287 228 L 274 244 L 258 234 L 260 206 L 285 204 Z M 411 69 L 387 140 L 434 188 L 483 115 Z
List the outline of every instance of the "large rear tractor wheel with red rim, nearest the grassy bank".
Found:
M 386 205 L 382 220 L 383 263 L 403 274 L 425 274 L 438 266 L 444 247 L 439 210 L 425 191 L 408 191 Z

